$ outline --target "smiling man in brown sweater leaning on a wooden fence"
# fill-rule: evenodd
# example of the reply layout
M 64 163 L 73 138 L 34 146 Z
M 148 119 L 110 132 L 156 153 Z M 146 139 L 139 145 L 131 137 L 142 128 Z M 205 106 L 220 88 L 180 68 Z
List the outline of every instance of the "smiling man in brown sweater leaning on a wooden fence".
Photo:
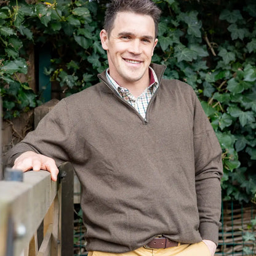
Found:
M 222 151 L 193 89 L 151 64 L 159 14 L 150 0 L 112 1 L 102 82 L 60 101 L 9 154 L 52 180 L 72 162 L 90 256 L 213 256 L 217 246 Z

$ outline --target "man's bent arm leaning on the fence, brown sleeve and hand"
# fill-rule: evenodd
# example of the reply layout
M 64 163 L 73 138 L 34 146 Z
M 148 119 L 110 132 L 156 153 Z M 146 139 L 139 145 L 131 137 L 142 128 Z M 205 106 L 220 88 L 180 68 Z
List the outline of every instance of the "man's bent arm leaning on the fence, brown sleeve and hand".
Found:
M 44 116 L 36 130 L 7 152 L 4 164 L 23 172 L 47 170 L 52 180 L 57 180 L 57 166 L 71 161 L 75 136 L 72 127 L 68 108 L 62 100 Z

